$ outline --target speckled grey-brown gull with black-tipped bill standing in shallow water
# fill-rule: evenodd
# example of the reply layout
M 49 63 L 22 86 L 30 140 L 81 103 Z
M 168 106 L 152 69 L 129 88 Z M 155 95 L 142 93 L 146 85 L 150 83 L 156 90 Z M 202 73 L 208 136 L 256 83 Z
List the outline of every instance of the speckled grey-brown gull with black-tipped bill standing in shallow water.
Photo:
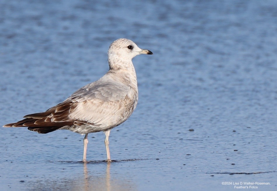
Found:
M 138 103 L 138 85 L 132 59 L 139 54 L 153 54 L 129 39 L 113 41 L 108 50 L 110 69 L 99 80 L 78 89 L 64 102 L 45 112 L 24 116 L 21 121 L 3 127 L 28 127 L 38 133 L 67 129 L 85 134 L 83 161 L 87 162 L 87 135 L 103 131 L 107 162 L 111 162 L 109 135 L 122 124 Z

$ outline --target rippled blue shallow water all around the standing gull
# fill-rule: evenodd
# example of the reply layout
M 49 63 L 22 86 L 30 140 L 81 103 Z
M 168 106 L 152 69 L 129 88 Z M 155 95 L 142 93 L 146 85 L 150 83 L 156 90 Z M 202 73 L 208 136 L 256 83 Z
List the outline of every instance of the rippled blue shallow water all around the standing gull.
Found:
M 84 165 L 77 133 L 1 128 L 0 190 L 277 190 L 276 23 L 274 0 L 0 1 L 1 125 L 99 79 L 115 39 L 154 53 L 115 162 L 101 132 Z

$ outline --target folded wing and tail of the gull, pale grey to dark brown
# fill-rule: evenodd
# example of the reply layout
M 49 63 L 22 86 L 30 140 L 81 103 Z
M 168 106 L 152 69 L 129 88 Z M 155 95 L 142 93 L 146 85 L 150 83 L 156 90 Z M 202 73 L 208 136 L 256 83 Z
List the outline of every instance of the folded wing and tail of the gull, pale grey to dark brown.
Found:
M 28 126 L 39 133 L 83 124 L 112 127 L 125 121 L 132 113 L 137 102 L 136 94 L 124 84 L 95 81 L 47 111 L 26 115 L 24 118 L 27 119 L 6 126 Z

